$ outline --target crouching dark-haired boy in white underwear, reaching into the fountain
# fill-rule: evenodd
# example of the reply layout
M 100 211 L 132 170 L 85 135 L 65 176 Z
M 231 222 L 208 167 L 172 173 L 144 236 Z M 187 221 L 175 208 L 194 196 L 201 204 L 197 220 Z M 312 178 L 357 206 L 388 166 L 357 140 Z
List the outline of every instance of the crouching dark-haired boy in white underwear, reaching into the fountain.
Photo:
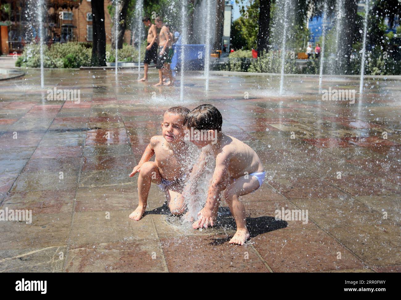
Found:
M 197 137 L 191 141 L 203 151 L 210 151 L 216 159 L 216 167 L 209 187 L 206 204 L 198 212 L 194 229 L 213 226 L 221 197 L 228 204 L 237 225 L 237 232 L 230 244 L 243 245 L 249 238 L 245 207 L 239 197 L 258 189 L 266 172 L 256 152 L 245 143 L 221 132 L 223 118 L 216 107 L 204 104 L 196 107 L 185 118 L 184 127 Z M 207 147 L 206 147 L 207 146 Z M 202 154 L 201 154 L 202 156 Z M 196 176 L 200 163 L 194 165 L 189 182 L 198 182 Z M 190 188 L 193 190 L 193 187 Z

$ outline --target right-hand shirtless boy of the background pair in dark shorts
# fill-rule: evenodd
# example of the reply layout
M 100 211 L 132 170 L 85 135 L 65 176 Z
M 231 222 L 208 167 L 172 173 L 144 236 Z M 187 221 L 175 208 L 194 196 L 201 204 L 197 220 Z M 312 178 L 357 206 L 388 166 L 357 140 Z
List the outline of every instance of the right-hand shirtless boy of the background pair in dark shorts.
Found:
M 160 29 L 160 34 L 159 34 L 159 54 L 157 58 L 157 64 L 156 68 L 159 71 L 159 82 L 154 85 L 155 87 L 163 85 L 163 70 L 166 74 L 166 76 L 170 79 L 170 83 L 168 85 L 174 85 L 174 77 L 172 77 L 172 74 L 167 71 L 167 62 L 168 60 L 168 51 L 170 50 L 169 46 L 171 47 L 170 44 L 172 42 L 170 41 L 170 34 L 168 32 L 168 28 L 163 25 L 163 20 L 160 17 L 156 18 L 156 26 L 157 28 Z

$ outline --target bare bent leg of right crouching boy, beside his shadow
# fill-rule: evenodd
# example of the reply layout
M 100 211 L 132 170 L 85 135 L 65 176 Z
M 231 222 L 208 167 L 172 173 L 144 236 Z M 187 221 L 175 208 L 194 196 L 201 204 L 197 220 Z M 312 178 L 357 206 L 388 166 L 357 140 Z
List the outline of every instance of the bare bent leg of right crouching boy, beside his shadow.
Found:
M 249 238 L 245 207 L 239 201 L 239 197 L 255 191 L 259 187 L 259 181 L 251 175 L 247 175 L 247 177 L 247 179 L 245 176 L 235 179 L 235 182 L 229 185 L 223 192 L 223 199 L 229 206 L 237 225 L 237 232 L 235 232 L 235 235 L 230 240 L 230 244 L 243 245 Z

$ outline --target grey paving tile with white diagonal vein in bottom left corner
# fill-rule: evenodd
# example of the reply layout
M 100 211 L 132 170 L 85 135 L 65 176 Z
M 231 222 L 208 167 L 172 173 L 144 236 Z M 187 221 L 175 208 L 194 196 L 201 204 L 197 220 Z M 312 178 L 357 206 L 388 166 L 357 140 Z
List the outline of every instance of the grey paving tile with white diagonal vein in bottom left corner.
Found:
M 0 272 L 63 272 L 67 246 L 0 250 Z

